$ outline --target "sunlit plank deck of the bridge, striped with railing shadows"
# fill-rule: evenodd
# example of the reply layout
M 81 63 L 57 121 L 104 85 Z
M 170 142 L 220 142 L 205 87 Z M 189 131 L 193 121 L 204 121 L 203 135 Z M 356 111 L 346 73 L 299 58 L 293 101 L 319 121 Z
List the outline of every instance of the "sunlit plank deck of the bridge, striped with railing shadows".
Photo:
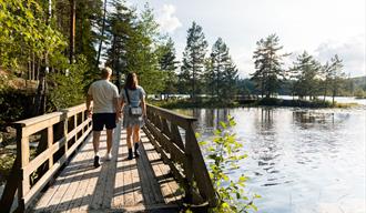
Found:
M 142 132 L 141 156 L 126 160 L 125 131 L 114 133 L 112 160 L 103 159 L 105 131 L 101 136 L 101 166 L 93 168 L 92 136 L 53 183 L 32 202 L 28 212 L 179 212 L 182 192 L 170 168 Z

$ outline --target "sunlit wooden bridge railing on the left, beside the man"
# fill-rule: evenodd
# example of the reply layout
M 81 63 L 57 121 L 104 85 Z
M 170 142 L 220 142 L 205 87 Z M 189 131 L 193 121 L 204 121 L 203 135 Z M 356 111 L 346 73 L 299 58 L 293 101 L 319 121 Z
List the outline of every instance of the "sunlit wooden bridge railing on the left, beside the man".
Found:
M 91 131 L 85 104 L 16 122 L 17 158 L 1 197 L 1 209 L 10 211 L 18 190 L 18 211 L 48 184 Z M 30 154 L 37 140 L 35 154 Z M 34 156 L 35 155 L 35 156 Z

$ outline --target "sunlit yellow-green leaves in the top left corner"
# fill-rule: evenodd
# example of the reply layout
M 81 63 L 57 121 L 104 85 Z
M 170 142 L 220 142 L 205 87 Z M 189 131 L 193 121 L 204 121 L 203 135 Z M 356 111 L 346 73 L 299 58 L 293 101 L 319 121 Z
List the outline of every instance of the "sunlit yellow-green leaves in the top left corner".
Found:
M 30 52 L 42 59 L 62 50 L 62 34 L 45 20 L 35 0 L 0 0 L 0 65 L 16 68 Z

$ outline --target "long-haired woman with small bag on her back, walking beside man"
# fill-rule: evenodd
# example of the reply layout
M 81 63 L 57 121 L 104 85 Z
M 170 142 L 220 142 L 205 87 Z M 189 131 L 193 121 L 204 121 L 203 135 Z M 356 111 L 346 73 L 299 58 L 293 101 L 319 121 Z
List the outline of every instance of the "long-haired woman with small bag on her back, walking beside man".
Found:
M 126 129 L 129 160 L 132 160 L 132 141 L 134 143 L 134 156 L 139 154 L 140 129 L 144 125 L 146 116 L 145 91 L 139 85 L 138 75 L 129 73 L 124 88 L 120 94 L 121 109 L 123 109 L 123 128 Z M 132 139 L 131 139 L 132 138 Z

